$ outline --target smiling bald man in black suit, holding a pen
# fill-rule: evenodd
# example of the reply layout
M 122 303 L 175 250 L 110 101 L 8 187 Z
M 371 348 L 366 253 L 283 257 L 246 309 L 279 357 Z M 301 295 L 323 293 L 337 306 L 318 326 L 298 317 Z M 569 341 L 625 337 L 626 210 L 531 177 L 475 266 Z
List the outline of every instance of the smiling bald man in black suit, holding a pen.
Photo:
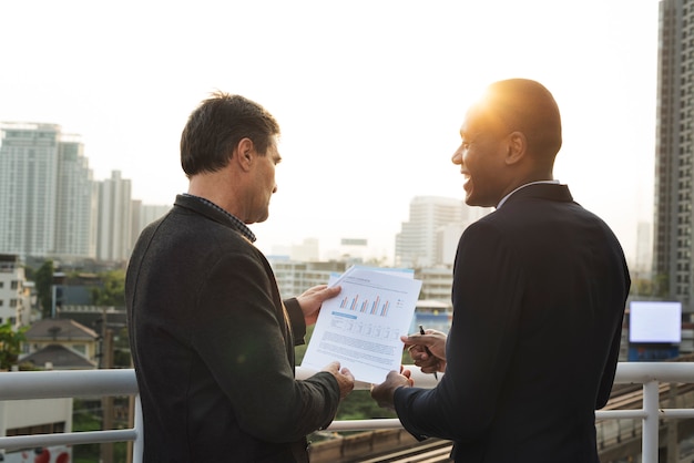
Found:
M 598 463 L 631 286 L 622 247 L 553 178 L 561 119 L 543 85 L 491 84 L 460 135 L 466 203 L 496 210 L 460 238 L 448 336 L 404 337 L 415 364 L 446 374 L 425 390 L 394 371 L 371 395 L 418 439 L 453 441 L 457 462 Z

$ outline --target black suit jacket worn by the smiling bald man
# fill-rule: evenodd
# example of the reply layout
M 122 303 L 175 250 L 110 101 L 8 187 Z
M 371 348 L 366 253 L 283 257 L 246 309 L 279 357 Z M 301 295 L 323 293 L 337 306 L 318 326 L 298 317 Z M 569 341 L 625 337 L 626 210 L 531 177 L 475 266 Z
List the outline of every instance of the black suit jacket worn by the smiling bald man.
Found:
M 447 369 L 400 388 L 400 421 L 456 461 L 598 463 L 631 280 L 614 234 L 565 185 L 512 194 L 463 233 Z

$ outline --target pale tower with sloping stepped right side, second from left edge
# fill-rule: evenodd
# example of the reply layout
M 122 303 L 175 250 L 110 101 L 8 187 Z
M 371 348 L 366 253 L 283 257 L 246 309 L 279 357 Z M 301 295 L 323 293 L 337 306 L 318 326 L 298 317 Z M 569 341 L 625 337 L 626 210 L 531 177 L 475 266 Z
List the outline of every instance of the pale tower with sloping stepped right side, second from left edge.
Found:
M 96 257 L 96 184 L 80 136 L 63 134 L 58 150 L 54 257 Z

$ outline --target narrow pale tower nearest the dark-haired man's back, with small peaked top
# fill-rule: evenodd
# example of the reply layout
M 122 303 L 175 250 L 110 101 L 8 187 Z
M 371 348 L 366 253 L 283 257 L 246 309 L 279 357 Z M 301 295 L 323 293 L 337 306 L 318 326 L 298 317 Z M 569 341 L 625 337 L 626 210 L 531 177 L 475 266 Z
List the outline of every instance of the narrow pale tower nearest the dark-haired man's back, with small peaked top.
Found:
M 99 184 L 99 236 L 96 259 L 126 261 L 132 249 L 131 181 L 113 171 Z

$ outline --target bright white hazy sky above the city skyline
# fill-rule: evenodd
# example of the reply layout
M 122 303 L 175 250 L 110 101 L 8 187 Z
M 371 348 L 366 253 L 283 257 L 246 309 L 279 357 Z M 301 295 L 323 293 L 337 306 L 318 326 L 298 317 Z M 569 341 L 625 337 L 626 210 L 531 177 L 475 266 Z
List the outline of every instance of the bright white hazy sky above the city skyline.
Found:
M 418 195 L 463 198 L 450 156 L 492 81 L 545 84 L 562 111 L 554 175 L 635 255 L 652 222 L 657 0 L 4 1 L 0 121 L 82 135 L 95 179 L 134 198 L 187 189 L 185 121 L 218 89 L 278 120 L 266 253 L 368 238 L 391 255 Z

